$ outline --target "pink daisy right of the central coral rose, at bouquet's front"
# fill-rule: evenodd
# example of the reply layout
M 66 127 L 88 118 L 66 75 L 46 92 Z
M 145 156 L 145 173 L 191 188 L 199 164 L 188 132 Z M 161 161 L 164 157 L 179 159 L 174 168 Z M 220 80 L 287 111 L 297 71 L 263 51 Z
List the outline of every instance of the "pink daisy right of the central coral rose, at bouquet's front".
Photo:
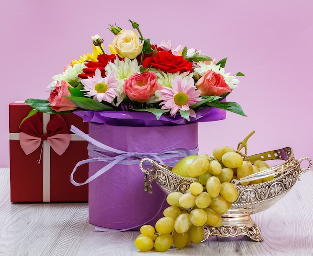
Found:
M 162 109 L 171 109 L 170 115 L 175 117 L 179 110 L 188 111 L 190 110 L 190 116 L 196 117 L 193 109 L 189 106 L 193 105 L 202 99 L 199 98 L 201 91 L 196 90 L 194 86 L 194 80 L 188 81 L 186 78 L 178 76 L 175 80 L 171 81 L 172 88 L 163 87 L 160 90 L 159 99 L 163 102 L 160 103 Z

